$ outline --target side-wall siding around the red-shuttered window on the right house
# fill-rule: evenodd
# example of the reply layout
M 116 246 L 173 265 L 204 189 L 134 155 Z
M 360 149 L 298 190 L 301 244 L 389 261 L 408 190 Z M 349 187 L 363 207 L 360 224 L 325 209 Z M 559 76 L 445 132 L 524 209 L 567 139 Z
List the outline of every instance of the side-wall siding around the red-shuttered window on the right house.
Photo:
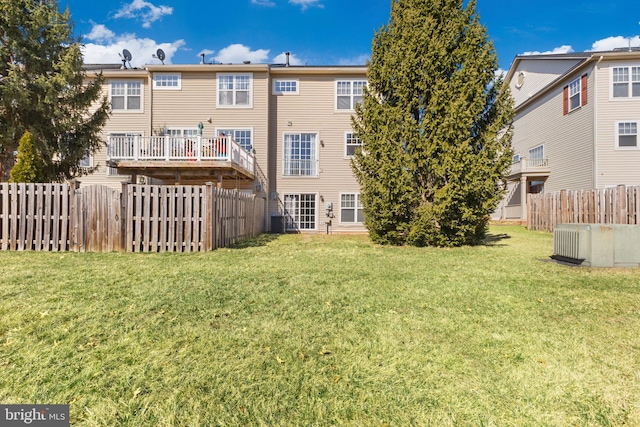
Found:
M 588 73 L 588 103 L 563 115 L 563 87 Z M 513 142 L 515 154 L 528 157 L 529 149 L 544 145 L 550 176 L 545 192 L 593 187 L 593 73 L 571 75 L 546 95 L 517 112 Z

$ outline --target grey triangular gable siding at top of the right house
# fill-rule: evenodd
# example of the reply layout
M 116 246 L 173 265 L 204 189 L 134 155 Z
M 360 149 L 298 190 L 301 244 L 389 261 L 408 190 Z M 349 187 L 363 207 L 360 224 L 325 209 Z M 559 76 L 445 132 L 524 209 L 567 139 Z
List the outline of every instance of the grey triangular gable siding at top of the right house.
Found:
M 581 61 L 579 58 L 521 59 L 509 84 L 515 106 L 525 102 Z M 524 84 L 517 88 L 516 81 L 521 71 L 525 73 Z

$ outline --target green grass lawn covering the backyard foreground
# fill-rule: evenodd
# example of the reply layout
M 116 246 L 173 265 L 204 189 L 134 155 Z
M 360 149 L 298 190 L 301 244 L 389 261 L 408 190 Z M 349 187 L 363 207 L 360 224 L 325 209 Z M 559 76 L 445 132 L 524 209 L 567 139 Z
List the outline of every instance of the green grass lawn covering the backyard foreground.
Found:
M 0 252 L 0 402 L 82 426 L 638 426 L 640 269 L 552 236 Z

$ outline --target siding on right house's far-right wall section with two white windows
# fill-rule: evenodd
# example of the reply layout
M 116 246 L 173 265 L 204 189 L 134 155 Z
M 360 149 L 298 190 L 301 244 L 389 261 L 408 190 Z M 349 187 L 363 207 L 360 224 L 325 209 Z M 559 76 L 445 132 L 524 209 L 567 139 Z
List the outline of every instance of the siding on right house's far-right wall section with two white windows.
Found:
M 611 97 L 610 67 L 640 66 L 635 61 L 603 61 L 598 64 L 597 80 L 597 187 L 619 184 L 640 185 L 640 150 L 618 149 L 616 122 L 637 121 L 640 124 L 640 99 L 615 99 Z

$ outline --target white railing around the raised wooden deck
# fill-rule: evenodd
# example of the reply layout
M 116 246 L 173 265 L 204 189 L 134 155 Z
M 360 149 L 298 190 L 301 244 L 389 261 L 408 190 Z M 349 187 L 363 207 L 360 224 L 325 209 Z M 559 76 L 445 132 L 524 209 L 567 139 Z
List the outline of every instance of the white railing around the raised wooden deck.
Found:
M 253 154 L 233 138 L 174 136 L 109 136 L 107 160 L 232 162 L 244 170 L 255 171 Z

